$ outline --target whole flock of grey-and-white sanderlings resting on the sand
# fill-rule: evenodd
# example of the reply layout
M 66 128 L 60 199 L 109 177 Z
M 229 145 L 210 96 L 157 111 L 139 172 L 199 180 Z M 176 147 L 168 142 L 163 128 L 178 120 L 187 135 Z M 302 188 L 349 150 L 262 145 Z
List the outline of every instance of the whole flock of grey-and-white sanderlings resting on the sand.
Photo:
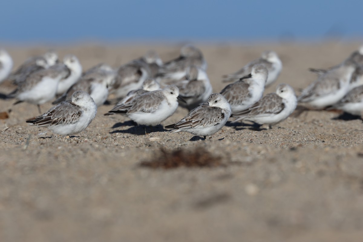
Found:
M 13 71 L 11 56 L 0 49 L 0 83 L 12 82 L 16 89 L 6 95 L 17 103 L 55 106 L 30 125 L 49 128 L 64 136 L 84 131 L 109 95 L 117 104 L 104 115 L 126 115 L 138 125 L 156 126 L 174 114 L 180 105 L 189 110 L 180 121 L 165 126 L 170 133 L 185 131 L 210 136 L 228 120 L 236 126 L 250 121 L 272 128 L 293 113 L 298 103 L 309 108 L 338 109 L 363 117 L 363 46 L 336 66 L 313 69 L 317 79 L 296 97 L 294 89 L 282 83 L 275 93 L 263 96 L 282 71 L 278 54 L 266 51 L 234 73 L 220 93 L 212 93 L 203 53 L 192 45 L 180 56 L 163 62 L 156 52 L 113 69 L 100 63 L 82 72 L 74 55 L 58 60 L 55 52 L 34 56 Z M 106 118 L 106 117 L 105 117 Z

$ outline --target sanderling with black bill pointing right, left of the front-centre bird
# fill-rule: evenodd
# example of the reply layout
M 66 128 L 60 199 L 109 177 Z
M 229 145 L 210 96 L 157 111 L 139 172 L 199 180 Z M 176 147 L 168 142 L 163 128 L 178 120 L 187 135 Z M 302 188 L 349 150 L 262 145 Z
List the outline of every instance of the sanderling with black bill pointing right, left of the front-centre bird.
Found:
M 142 94 L 129 104 L 115 106 L 111 113 L 126 114 L 137 124 L 156 126 L 174 114 L 178 108 L 178 87 L 171 85 L 162 90 Z

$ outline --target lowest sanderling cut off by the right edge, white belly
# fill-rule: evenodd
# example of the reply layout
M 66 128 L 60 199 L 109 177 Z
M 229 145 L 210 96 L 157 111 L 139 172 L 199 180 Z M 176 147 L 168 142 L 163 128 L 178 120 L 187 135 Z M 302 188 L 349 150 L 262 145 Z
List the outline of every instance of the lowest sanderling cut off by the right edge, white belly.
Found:
M 331 108 L 344 112 L 360 115 L 363 118 L 363 85 L 349 91 L 337 104 Z

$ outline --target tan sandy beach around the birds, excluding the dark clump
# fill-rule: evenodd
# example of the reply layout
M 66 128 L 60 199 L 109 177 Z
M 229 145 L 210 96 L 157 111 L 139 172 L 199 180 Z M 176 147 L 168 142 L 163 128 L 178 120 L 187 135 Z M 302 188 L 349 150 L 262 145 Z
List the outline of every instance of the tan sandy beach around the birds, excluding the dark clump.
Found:
M 223 74 L 264 50 L 283 63 L 275 91 L 288 83 L 297 94 L 359 42 L 314 44 L 196 44 L 208 62 L 213 91 Z M 5 46 L 6 47 L 6 46 Z M 6 48 L 18 67 L 46 47 Z M 54 48 L 75 54 L 83 68 L 117 67 L 147 50 L 163 61 L 180 45 L 77 44 Z M 15 87 L 0 85 L 5 94 Z M 110 97 L 111 98 L 111 97 Z M 208 140 L 163 126 L 183 118 L 178 107 L 162 126 L 134 126 L 121 115 L 97 116 L 71 140 L 28 126 L 35 105 L 0 100 L 0 241 L 361 241 L 363 238 L 363 124 L 338 112 L 290 116 L 271 130 L 227 124 Z M 52 104 L 41 106 L 46 111 Z M 9 111 L 11 110 L 11 111 Z M 147 132 L 147 134 L 145 134 Z M 140 167 L 160 149 L 204 148 L 225 165 L 211 168 Z

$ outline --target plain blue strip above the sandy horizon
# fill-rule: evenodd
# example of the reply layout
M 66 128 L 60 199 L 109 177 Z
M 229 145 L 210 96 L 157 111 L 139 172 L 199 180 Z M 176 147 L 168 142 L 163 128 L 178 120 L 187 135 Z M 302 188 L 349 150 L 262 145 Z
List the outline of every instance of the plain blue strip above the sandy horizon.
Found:
M 1 42 L 363 38 L 363 0 L 8 0 Z

